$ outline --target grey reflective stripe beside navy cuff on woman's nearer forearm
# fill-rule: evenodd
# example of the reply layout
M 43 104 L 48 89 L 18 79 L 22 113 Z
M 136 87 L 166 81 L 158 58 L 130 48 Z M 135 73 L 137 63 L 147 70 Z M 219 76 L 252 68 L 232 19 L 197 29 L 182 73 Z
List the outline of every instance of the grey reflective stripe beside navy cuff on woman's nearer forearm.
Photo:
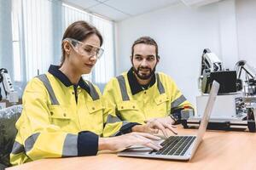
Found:
M 78 135 L 67 133 L 63 144 L 62 157 L 78 156 Z

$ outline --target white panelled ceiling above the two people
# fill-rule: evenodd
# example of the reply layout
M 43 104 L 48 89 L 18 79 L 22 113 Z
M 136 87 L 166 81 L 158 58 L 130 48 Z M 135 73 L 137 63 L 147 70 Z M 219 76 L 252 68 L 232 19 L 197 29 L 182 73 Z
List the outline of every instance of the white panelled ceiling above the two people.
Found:
M 189 7 L 215 3 L 219 0 L 62 0 L 64 3 L 102 17 L 120 21 L 177 3 Z

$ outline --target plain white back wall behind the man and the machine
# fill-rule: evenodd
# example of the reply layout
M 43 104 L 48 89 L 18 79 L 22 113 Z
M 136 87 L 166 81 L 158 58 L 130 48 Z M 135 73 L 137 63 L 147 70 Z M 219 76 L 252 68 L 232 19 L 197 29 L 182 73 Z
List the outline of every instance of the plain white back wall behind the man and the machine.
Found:
M 247 32 L 247 37 L 242 33 L 246 30 L 245 26 L 252 32 L 253 28 L 256 29 L 247 23 L 244 23 L 244 27 L 237 25 L 247 18 L 247 14 L 244 14 L 247 13 L 247 7 L 242 8 L 243 6 L 249 6 L 250 14 L 256 14 L 253 11 L 256 1 L 251 0 L 249 5 L 244 3 L 247 1 L 224 0 L 200 8 L 189 8 L 178 3 L 117 23 L 117 73 L 131 67 L 129 56 L 132 42 L 142 36 L 153 37 L 160 47 L 157 71 L 166 72 L 173 77 L 183 94 L 195 105 L 195 96 L 200 94 L 197 79 L 204 48 L 210 48 L 217 54 L 223 60 L 225 68 L 233 69 L 241 54 L 245 56 L 251 52 L 247 57 L 248 60 L 253 60 L 253 50 L 248 52 L 246 45 L 250 33 Z M 237 9 L 239 14 L 236 14 Z M 252 20 L 256 26 L 255 17 L 247 22 Z M 253 35 L 255 38 L 255 31 Z M 237 39 L 242 39 L 243 42 L 238 43 Z M 256 40 L 252 40 L 250 43 L 253 46 L 255 42 Z

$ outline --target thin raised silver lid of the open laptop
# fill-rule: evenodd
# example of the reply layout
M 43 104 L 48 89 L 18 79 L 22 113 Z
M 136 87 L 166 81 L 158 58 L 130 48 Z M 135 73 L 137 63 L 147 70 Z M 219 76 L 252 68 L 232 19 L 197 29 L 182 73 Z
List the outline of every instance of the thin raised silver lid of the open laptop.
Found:
M 196 139 L 195 139 L 195 145 L 193 146 L 193 150 L 191 151 L 191 156 L 190 159 L 194 156 L 195 154 L 195 150 L 197 149 L 197 147 L 199 146 L 199 144 L 201 143 L 201 139 L 203 138 L 206 130 L 207 130 L 207 125 L 211 116 L 211 112 L 212 112 L 212 107 L 214 105 L 216 96 L 218 94 L 218 88 L 219 88 L 219 83 L 216 81 L 212 82 L 212 88 L 211 88 L 211 92 L 209 94 L 209 98 L 207 101 L 207 106 L 206 109 L 204 111 L 204 115 L 201 118 L 201 124 L 198 130 L 198 133 L 196 135 Z

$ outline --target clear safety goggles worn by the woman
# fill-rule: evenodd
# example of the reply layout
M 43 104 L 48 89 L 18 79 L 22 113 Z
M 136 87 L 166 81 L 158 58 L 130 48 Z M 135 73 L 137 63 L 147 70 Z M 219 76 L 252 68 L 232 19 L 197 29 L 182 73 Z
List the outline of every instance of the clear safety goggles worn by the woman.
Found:
M 96 56 L 97 59 L 100 59 L 102 57 L 102 54 L 104 53 L 104 49 L 96 47 L 94 45 L 79 42 L 79 40 L 67 37 L 63 41 L 70 42 L 73 49 L 81 55 L 89 55 L 90 57 Z

